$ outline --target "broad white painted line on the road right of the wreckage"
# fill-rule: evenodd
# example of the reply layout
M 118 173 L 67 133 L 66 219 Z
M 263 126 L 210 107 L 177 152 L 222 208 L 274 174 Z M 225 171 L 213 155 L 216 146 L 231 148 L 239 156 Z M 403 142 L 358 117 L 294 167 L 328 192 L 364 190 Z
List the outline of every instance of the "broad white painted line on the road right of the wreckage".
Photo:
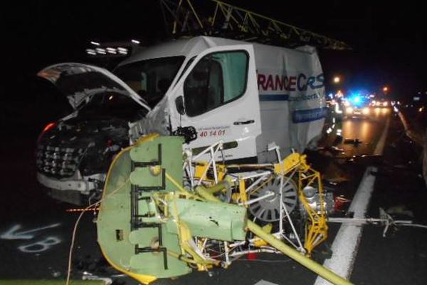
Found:
M 387 118 L 381 138 L 379 139 L 374 154 L 382 155 L 384 145 L 386 144 L 387 133 L 389 132 L 390 117 Z M 374 191 L 375 177 L 371 172 L 376 172 L 376 167 L 367 167 L 362 182 L 360 182 L 357 192 L 354 195 L 349 212 L 354 212 L 355 218 L 365 218 L 372 192 Z M 339 276 L 349 279 L 352 274 L 354 261 L 359 248 L 360 239 L 362 238 L 363 225 L 342 224 L 339 227 L 337 237 L 332 244 L 332 257 L 326 259 L 324 266 L 334 271 Z M 317 276 L 315 285 L 330 284 L 322 277 Z

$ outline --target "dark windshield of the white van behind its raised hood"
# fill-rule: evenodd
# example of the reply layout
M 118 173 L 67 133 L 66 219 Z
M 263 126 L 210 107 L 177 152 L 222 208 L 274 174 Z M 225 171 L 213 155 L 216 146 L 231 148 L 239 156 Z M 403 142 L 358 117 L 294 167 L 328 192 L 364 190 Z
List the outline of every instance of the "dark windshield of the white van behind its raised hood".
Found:
M 147 59 L 119 66 L 114 73 L 153 108 L 169 89 L 184 58 L 172 56 Z

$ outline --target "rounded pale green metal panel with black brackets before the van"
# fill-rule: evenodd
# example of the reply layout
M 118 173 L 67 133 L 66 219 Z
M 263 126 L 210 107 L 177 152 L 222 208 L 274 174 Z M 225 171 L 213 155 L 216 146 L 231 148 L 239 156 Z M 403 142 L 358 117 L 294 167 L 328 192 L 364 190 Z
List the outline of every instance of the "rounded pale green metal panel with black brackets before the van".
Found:
M 137 167 L 132 173 L 132 160 L 134 162 L 152 162 L 161 158 L 162 168 L 174 175 L 176 181 L 182 185 L 182 142 L 183 140 L 179 137 L 161 137 L 142 142 L 132 150 L 122 152 L 111 167 L 104 189 L 105 199 L 100 205 L 97 217 L 97 235 L 102 252 L 113 266 L 122 271 L 158 278 L 180 276 L 191 272 L 185 262 L 169 255 L 167 256 L 167 269 L 164 269 L 162 252 L 137 254 L 135 247 L 156 247 L 155 241 L 159 239 L 159 232 L 155 227 L 133 230 L 131 227 L 132 183 L 143 187 L 158 186 L 157 183 L 161 182 L 159 179 L 162 176 L 153 176 L 148 170 L 149 167 Z M 162 145 L 160 157 L 159 144 Z M 165 191 L 176 190 L 169 182 L 166 182 L 166 186 Z M 139 197 L 151 196 L 151 191 L 142 192 L 142 195 L 139 195 Z M 140 199 L 138 207 L 137 214 L 154 215 L 154 217 L 141 218 L 142 222 L 159 222 L 154 202 L 149 199 Z M 165 225 L 162 225 L 162 240 L 163 247 L 166 247 L 167 250 L 181 253 L 178 236 L 167 234 Z

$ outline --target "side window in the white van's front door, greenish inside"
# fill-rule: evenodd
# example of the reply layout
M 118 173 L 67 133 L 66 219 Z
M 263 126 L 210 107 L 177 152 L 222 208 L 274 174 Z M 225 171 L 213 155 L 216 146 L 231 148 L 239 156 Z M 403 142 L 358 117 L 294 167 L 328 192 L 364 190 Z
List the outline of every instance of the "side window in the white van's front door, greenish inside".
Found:
M 201 58 L 184 83 L 186 114 L 201 115 L 241 97 L 247 73 L 245 51 L 211 53 Z

